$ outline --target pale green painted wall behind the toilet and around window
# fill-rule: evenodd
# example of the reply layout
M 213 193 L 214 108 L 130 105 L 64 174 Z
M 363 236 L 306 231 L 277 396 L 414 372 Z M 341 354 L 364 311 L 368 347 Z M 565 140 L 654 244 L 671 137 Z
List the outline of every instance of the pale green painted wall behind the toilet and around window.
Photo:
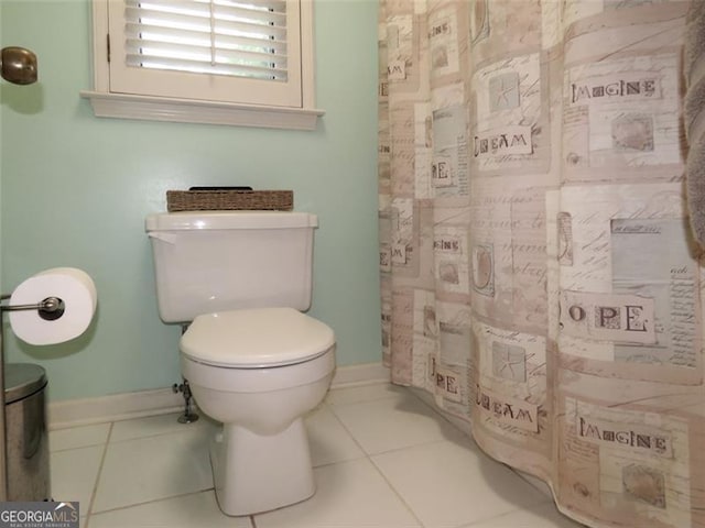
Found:
M 50 267 L 91 275 L 98 312 L 68 343 L 32 346 L 4 321 L 10 361 L 43 365 L 51 400 L 170 386 L 181 329 L 161 322 L 143 221 L 191 185 L 293 189 L 315 212 L 311 315 L 338 365 L 380 361 L 377 249 L 377 2 L 315 2 L 315 132 L 99 119 L 88 0 L 0 2 L 3 46 L 40 61 L 40 82 L 0 84 L 1 271 L 12 289 Z

